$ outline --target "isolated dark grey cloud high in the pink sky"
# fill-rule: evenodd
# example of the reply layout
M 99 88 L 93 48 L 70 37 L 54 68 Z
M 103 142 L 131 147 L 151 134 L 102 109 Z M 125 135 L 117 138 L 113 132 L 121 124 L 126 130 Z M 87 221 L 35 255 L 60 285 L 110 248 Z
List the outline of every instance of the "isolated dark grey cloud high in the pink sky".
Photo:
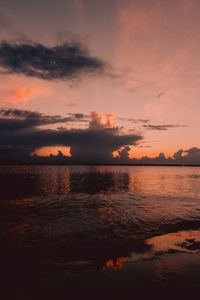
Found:
M 55 47 L 23 43 L 0 45 L 0 66 L 9 74 L 23 74 L 39 79 L 77 79 L 84 74 L 99 74 L 105 63 L 90 56 L 79 44 Z

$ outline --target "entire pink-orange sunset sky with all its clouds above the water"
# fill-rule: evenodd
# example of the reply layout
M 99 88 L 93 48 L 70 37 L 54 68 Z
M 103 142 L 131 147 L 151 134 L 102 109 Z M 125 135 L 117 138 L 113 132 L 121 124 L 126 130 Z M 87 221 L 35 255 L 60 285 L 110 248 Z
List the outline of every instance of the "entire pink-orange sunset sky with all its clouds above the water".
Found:
M 199 75 L 198 0 L 1 0 L 0 161 L 200 164 Z

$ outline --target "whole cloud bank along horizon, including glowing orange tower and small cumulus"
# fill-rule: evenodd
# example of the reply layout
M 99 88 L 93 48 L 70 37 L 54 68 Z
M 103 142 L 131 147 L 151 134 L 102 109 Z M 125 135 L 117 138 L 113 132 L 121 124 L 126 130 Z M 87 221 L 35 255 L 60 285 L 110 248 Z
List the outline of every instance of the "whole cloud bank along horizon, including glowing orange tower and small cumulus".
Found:
M 88 127 L 45 129 L 46 125 L 70 122 L 86 122 Z M 122 132 L 110 113 L 101 116 L 93 111 L 90 116 L 70 113 L 62 117 L 20 109 L 0 110 L 0 163 L 200 165 L 198 147 L 180 149 L 172 157 L 160 153 L 154 158 L 130 158 L 130 146 L 142 139 L 137 132 Z M 37 149 L 51 146 L 58 147 L 58 155 L 37 155 Z M 59 147 L 70 147 L 71 157 L 63 155 Z

